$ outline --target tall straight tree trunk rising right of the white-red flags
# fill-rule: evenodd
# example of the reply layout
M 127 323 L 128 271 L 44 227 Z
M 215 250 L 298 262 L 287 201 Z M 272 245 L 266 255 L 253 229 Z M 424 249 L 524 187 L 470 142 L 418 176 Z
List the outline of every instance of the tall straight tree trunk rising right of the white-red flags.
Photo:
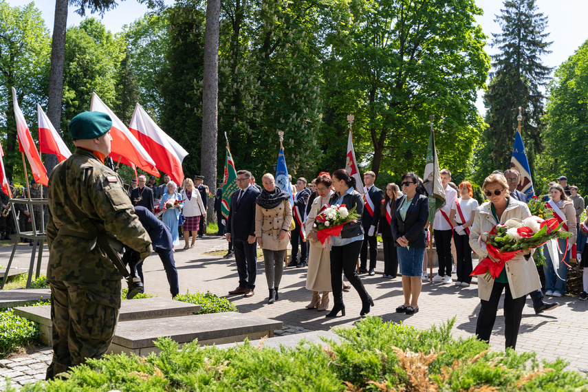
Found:
M 202 146 L 200 170 L 211 192 L 217 189 L 217 136 L 219 98 L 219 16 L 220 0 L 206 4 L 204 31 L 204 75 L 202 78 Z M 208 204 L 208 221 L 213 217 L 214 203 Z

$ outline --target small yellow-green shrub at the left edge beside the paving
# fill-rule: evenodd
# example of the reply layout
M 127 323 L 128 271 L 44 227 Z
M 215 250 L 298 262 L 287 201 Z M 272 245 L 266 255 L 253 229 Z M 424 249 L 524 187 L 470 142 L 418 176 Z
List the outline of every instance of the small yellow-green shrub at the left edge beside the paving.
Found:
M 0 312 L 0 358 L 31 345 L 39 334 L 36 323 L 15 315 L 12 309 Z

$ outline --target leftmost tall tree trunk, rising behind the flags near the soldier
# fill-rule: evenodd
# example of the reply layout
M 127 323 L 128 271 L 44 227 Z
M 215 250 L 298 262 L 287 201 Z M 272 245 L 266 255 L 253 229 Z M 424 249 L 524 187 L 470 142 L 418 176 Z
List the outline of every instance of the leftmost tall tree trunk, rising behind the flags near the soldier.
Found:
M 49 74 L 49 103 L 47 117 L 61 134 L 61 98 L 63 95 L 63 63 L 65 62 L 65 32 L 67 30 L 67 0 L 55 1 L 55 19 L 53 22 L 53 41 L 51 45 L 51 70 Z M 45 168 L 49 175 L 57 157 L 45 155 Z

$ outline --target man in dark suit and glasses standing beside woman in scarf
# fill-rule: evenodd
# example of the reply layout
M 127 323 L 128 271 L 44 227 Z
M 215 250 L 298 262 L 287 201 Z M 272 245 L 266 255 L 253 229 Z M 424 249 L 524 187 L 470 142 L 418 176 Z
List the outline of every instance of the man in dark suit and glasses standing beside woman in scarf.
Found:
M 259 190 L 251 186 L 251 173 L 237 172 L 239 190 L 231 195 L 226 224 L 226 239 L 232 242 L 239 273 L 239 287 L 229 294 L 253 296 L 257 276 L 257 240 L 255 238 L 255 200 Z

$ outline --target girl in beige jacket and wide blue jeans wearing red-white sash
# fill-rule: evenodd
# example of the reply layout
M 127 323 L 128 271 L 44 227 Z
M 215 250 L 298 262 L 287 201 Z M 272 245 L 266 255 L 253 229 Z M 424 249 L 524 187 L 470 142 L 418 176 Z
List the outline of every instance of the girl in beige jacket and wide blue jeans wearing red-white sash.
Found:
M 555 252 L 556 254 L 551 254 L 547 248 L 547 244 L 543 246 L 543 254 L 545 254 L 545 265 L 543 265 L 543 272 L 545 272 L 545 295 L 563 296 L 567 281 L 567 263 L 572 247 L 576 243 L 576 236 L 578 235 L 578 230 L 576 229 L 576 208 L 574 208 L 574 203 L 565 194 L 560 184 L 553 184 L 549 187 L 549 198 L 551 200 L 547 202 L 547 208 L 553 211 L 554 218 L 557 219 L 558 223 L 566 221 L 563 230 L 571 232 L 571 237 L 567 239 L 567 248 L 565 239 L 552 240 L 558 241 L 559 246 L 556 246 L 556 249 L 559 248 L 562 254 L 565 253 L 565 258 L 561 262 L 559 262 L 561 256 L 557 250 Z M 554 258 L 557 260 L 553 260 Z M 558 265 L 557 274 L 553 261 L 556 261 Z

